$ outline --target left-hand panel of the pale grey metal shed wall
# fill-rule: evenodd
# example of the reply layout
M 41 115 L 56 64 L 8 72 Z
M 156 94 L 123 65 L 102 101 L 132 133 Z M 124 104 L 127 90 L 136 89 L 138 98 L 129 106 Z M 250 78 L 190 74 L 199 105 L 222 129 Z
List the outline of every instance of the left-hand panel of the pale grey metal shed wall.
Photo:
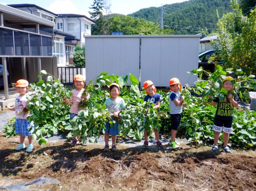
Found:
M 88 36 L 85 39 L 86 82 L 101 72 L 139 77 L 140 38 Z

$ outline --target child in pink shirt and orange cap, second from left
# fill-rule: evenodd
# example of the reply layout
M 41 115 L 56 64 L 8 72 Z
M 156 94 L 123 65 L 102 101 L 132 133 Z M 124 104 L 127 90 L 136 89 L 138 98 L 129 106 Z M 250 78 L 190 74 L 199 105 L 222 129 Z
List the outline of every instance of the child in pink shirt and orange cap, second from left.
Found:
M 75 76 L 74 78 L 74 85 L 76 87 L 76 89 L 72 90 L 72 96 L 69 99 L 69 102 L 72 104 L 70 107 L 70 120 L 72 120 L 75 116 L 78 115 L 78 112 L 83 110 L 83 109 L 87 109 L 86 108 L 82 108 L 81 106 L 79 106 L 79 101 L 81 100 L 81 98 L 84 98 L 86 100 L 89 99 L 89 95 L 82 95 L 83 91 L 84 91 L 84 86 L 85 86 L 85 79 L 83 78 L 82 75 L 78 74 Z M 75 126 L 74 123 L 72 123 L 73 126 Z M 72 145 L 75 146 L 78 143 L 78 138 L 77 136 L 73 136 L 73 140 L 72 140 Z

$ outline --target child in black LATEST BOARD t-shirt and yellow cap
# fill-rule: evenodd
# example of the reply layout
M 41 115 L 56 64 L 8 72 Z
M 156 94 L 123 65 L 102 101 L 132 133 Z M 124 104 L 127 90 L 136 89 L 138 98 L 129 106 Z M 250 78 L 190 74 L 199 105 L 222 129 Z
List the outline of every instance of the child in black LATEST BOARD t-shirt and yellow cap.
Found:
M 214 119 L 214 125 L 213 130 L 214 133 L 214 145 L 212 146 L 212 151 L 217 152 L 218 147 L 218 140 L 220 136 L 220 132 L 223 130 L 223 137 L 224 137 L 224 144 L 223 144 L 223 150 L 226 153 L 232 153 L 230 148 L 227 146 L 227 143 L 229 142 L 229 134 L 233 132 L 232 129 L 232 121 L 234 119 L 234 107 L 237 108 L 238 106 L 238 96 L 233 95 L 230 93 L 233 89 L 233 83 L 232 80 L 234 78 L 228 76 L 225 79 L 223 79 L 222 88 L 226 89 L 229 93 L 224 96 L 224 99 L 221 101 L 219 98 L 214 98 L 211 102 L 211 105 L 217 104 L 217 110 L 215 113 L 215 119 Z

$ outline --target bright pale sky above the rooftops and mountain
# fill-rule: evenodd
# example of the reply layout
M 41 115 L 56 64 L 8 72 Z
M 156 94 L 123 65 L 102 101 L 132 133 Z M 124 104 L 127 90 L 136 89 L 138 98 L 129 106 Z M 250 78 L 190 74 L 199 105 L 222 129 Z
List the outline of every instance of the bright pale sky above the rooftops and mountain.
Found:
M 134 13 L 141 8 L 160 7 L 161 4 L 180 3 L 186 0 L 109 0 L 111 12 L 120 14 Z M 73 13 L 89 16 L 93 0 L 0 0 L 1 4 L 36 4 L 53 13 Z

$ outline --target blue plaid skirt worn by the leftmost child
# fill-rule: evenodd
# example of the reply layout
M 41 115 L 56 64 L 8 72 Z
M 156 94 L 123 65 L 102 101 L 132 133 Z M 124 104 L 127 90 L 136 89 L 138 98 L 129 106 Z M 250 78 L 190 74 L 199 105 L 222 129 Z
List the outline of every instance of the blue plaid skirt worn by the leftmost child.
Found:
M 29 122 L 27 119 L 16 119 L 15 120 L 15 133 L 22 134 L 22 136 L 30 136 L 34 132 L 34 123 Z

